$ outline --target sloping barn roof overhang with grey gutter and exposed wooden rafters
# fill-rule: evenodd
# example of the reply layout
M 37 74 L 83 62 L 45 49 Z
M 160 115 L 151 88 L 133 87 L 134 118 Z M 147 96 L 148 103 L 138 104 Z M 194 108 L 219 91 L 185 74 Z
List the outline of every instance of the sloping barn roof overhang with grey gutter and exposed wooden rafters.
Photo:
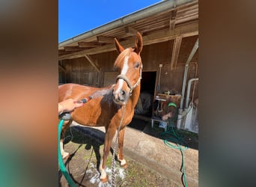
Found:
M 58 44 L 58 59 L 72 59 L 115 50 L 114 37 L 124 47 L 134 45 L 140 32 L 143 45 L 198 35 L 198 0 L 160 1 Z

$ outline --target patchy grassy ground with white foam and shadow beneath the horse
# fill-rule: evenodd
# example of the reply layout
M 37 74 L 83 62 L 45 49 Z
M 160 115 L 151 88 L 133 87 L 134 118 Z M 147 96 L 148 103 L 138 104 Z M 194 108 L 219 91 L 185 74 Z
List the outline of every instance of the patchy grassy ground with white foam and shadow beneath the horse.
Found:
M 64 138 L 64 147 L 70 153 L 64 160 L 68 174 L 78 186 L 111 186 L 112 154 L 106 162 L 106 173 L 109 176 L 107 183 L 100 182 L 100 154 L 103 153 L 105 133 L 99 129 L 87 126 L 70 126 Z M 141 163 L 126 156 L 129 168 L 124 169 L 115 164 L 115 183 L 117 186 L 168 186 L 176 183 L 163 178 L 160 174 L 150 170 Z M 58 171 L 58 186 L 68 186 L 61 171 Z

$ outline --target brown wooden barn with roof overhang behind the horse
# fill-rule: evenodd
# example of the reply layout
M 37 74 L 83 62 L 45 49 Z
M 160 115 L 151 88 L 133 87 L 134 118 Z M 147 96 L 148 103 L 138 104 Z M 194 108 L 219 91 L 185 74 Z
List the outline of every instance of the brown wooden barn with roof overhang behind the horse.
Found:
M 59 84 L 104 87 L 115 83 L 118 56 L 143 37 L 141 93 L 150 93 L 150 120 L 175 102 L 175 126 L 198 133 L 198 1 L 160 1 L 58 44 Z M 160 106 L 160 109 L 159 109 Z

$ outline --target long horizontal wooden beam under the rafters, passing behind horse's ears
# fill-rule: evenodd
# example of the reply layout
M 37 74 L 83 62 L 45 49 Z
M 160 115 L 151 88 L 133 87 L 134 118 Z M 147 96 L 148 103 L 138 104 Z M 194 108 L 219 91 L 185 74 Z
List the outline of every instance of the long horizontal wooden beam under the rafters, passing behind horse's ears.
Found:
M 195 35 L 198 35 L 198 22 L 195 22 L 189 25 L 183 25 L 183 26 L 174 28 L 174 30 L 167 29 L 162 31 L 156 31 L 153 34 L 144 36 L 143 45 L 147 46 L 153 43 L 160 43 L 168 40 L 174 40 L 177 36 L 191 37 Z M 124 46 L 124 48 L 129 46 L 134 46 L 134 40 L 125 40 L 120 43 L 122 46 Z M 85 54 L 94 55 L 102 52 L 111 52 L 115 50 L 116 48 L 113 42 L 112 44 L 108 44 L 106 46 L 95 47 L 92 49 L 83 50 L 81 52 L 73 52 L 72 54 L 68 54 L 68 55 L 61 55 L 58 59 L 64 60 L 64 59 L 80 58 Z

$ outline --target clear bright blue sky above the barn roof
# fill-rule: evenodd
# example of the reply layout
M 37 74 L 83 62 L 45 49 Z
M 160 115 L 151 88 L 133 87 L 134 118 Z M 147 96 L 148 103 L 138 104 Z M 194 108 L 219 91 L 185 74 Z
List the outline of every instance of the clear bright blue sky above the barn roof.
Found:
M 58 42 L 112 22 L 161 0 L 59 0 Z

